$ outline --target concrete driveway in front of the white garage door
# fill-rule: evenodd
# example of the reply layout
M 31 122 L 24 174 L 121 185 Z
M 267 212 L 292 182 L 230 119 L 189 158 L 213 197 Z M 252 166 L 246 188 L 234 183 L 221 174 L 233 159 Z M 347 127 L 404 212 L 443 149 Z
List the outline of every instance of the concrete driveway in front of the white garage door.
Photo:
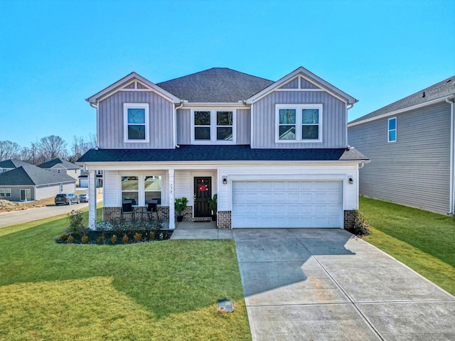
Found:
M 455 297 L 343 229 L 234 229 L 253 340 L 455 340 Z

